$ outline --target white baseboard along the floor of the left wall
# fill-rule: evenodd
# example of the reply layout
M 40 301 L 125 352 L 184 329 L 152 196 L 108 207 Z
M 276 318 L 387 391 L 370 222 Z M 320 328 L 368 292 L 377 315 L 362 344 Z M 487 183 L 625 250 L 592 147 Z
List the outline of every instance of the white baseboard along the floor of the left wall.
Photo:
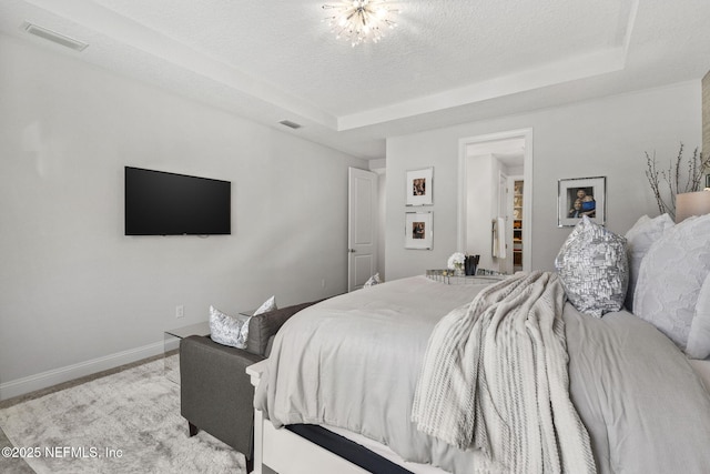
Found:
M 85 375 L 95 374 L 97 372 L 114 369 L 123 364 L 130 364 L 142 359 L 152 357 L 153 355 L 162 354 L 163 350 L 162 341 L 154 342 L 142 347 L 116 352 L 115 354 L 105 355 L 91 361 L 80 362 L 78 364 L 67 365 L 65 367 L 54 369 L 36 375 L 1 383 L 0 401 L 24 395 L 27 393 L 34 392 L 36 390 L 47 389 Z

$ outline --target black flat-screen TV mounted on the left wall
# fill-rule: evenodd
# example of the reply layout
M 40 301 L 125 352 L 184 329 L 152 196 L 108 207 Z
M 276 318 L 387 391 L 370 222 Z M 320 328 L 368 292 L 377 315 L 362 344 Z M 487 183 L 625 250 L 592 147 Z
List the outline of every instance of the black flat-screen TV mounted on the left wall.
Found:
M 231 234 L 232 183 L 125 167 L 125 235 Z

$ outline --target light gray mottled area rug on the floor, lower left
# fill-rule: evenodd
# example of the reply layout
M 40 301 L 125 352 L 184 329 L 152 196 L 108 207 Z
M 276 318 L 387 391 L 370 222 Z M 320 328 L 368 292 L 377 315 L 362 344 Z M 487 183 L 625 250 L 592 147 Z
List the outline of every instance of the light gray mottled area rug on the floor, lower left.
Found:
M 0 427 L 38 474 L 246 472 L 232 447 L 189 436 L 162 359 L 0 410 Z

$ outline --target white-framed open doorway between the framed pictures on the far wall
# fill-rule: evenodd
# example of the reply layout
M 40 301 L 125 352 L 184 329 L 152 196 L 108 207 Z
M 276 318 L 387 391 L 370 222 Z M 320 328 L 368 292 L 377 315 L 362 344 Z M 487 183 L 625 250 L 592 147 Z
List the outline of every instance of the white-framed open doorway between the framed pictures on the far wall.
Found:
M 459 140 L 458 249 L 480 254 L 481 269 L 531 268 L 531 129 Z

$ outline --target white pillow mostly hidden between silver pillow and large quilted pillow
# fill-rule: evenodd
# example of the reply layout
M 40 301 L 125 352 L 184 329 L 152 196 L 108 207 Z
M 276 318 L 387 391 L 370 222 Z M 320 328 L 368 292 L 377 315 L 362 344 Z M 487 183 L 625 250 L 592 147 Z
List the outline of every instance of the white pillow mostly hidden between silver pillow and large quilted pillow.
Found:
M 626 233 L 627 249 L 629 252 L 629 289 L 626 292 L 626 309 L 633 312 L 633 292 L 639 278 L 641 260 L 648 253 L 653 242 L 659 240 L 666 230 L 674 224 L 670 215 L 662 214 L 658 218 L 642 215 L 636 224 Z

